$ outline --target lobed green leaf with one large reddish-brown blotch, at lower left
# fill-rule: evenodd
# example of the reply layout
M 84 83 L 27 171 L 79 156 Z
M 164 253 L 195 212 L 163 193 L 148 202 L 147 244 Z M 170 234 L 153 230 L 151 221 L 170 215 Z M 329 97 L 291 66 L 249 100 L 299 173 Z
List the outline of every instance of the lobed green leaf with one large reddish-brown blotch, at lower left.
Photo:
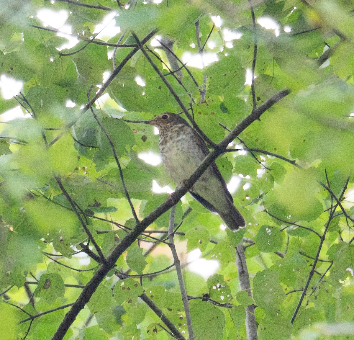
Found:
M 64 297 L 64 293 L 64 281 L 59 274 L 42 274 L 34 291 L 34 296 L 42 297 L 51 305 L 57 297 Z

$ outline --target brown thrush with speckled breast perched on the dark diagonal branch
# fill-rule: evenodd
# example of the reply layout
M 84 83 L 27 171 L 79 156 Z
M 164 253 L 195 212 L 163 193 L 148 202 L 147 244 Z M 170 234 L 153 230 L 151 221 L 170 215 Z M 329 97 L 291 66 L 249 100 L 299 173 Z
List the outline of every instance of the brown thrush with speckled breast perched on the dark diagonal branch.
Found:
M 161 113 L 145 123 L 158 128 L 162 163 L 177 185 L 188 179 L 209 154 L 204 140 L 178 114 Z M 189 193 L 205 208 L 217 212 L 232 231 L 246 226 L 246 221 L 234 206 L 233 198 L 215 162 L 194 183 Z

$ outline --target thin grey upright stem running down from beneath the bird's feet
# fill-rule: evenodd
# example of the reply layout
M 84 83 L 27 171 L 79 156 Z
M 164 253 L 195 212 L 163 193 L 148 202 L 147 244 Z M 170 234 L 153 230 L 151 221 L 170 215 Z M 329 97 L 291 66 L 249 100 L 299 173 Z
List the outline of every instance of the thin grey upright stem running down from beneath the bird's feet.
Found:
M 169 246 L 173 256 L 174 264 L 176 266 L 176 273 L 177 273 L 177 278 L 179 283 L 179 289 L 181 290 L 181 295 L 182 295 L 182 302 L 183 302 L 183 307 L 185 312 L 185 319 L 187 322 L 189 340 L 193 340 L 194 335 L 193 335 L 192 319 L 190 318 L 190 312 L 189 312 L 187 291 L 185 290 L 181 263 L 179 262 L 176 247 L 175 247 L 175 242 L 173 241 L 173 237 L 175 236 L 173 233 L 173 227 L 175 226 L 175 209 L 176 209 L 176 205 L 173 205 L 171 208 L 170 223 L 169 223 Z

